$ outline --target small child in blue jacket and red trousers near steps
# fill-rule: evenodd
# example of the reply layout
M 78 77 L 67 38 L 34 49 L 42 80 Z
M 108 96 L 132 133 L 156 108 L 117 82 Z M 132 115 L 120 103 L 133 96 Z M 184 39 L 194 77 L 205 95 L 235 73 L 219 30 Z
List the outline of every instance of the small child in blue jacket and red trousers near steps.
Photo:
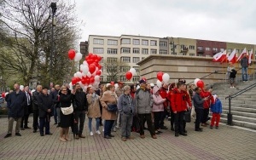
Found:
M 222 113 L 222 104 L 221 104 L 221 101 L 218 99 L 217 94 L 213 95 L 213 99 L 214 99 L 214 103 L 212 103 L 211 105 L 212 121 L 211 121 L 210 129 L 213 128 L 215 121 L 216 121 L 215 128 L 218 129 L 218 123 L 220 120 L 220 115 Z

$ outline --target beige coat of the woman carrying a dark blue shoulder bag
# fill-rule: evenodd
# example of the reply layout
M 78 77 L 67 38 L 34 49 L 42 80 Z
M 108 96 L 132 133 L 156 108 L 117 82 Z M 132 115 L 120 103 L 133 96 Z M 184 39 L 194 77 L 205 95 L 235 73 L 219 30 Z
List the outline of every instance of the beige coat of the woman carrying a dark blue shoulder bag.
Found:
M 116 112 L 108 111 L 108 104 L 117 104 L 117 96 L 113 92 L 107 90 L 103 93 L 102 99 L 102 119 L 105 120 L 116 120 Z

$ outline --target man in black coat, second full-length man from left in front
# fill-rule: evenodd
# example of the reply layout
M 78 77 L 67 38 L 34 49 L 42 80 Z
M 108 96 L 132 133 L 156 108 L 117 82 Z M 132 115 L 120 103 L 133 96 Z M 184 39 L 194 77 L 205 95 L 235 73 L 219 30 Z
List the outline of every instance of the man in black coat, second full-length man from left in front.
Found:
M 50 120 L 50 111 L 54 105 L 53 100 L 48 94 L 48 88 L 43 88 L 43 93 L 38 96 L 38 109 L 39 109 L 39 123 L 40 123 L 40 135 L 44 136 L 44 127 L 45 134 L 51 134 L 49 132 L 49 120 Z

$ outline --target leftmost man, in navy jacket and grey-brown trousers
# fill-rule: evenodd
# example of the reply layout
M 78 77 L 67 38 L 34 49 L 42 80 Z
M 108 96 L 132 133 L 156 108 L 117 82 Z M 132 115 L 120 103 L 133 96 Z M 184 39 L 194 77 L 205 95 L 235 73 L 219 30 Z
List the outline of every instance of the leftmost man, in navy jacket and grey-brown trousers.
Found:
M 15 83 L 14 92 L 9 94 L 7 100 L 9 109 L 9 125 L 8 134 L 4 138 L 8 138 L 12 135 L 13 124 L 16 121 L 15 135 L 21 136 L 20 134 L 20 122 L 21 118 L 24 116 L 24 106 L 26 106 L 26 94 L 20 91 L 20 84 Z

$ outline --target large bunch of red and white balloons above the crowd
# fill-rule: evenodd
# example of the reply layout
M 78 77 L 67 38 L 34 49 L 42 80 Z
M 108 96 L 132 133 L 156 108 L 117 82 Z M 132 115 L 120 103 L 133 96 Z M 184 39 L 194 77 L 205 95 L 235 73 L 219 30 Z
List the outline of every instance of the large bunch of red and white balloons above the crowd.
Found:
M 77 54 L 73 55 L 74 50 L 70 49 L 68 51 L 68 57 L 70 60 L 76 60 Z M 73 58 L 73 59 L 72 59 Z M 81 60 L 80 57 L 77 61 Z M 101 81 L 102 74 L 102 66 L 99 62 L 102 60 L 102 57 L 96 54 L 88 54 L 85 57 L 85 60 L 82 65 L 80 65 L 80 71 L 74 73 L 71 83 L 73 84 L 79 83 L 81 88 L 86 90 L 88 86 L 92 86 L 97 88 Z

